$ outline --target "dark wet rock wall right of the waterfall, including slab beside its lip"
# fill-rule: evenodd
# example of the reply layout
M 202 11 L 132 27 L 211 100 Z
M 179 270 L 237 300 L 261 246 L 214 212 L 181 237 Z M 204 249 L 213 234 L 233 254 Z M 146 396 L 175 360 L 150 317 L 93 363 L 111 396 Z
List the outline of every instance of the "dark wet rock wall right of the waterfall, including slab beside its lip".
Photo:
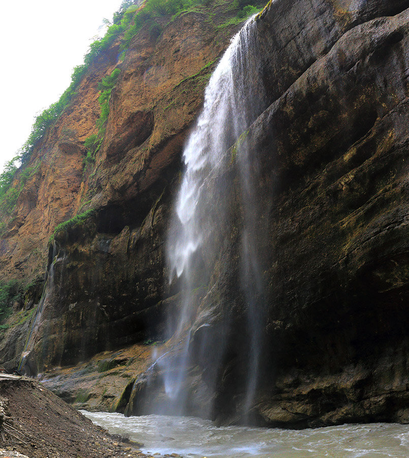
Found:
M 408 6 L 274 2 L 258 20 L 271 104 L 244 143 L 260 171 L 254 230 L 268 318 L 251 421 L 408 420 Z M 230 167 L 209 180 L 233 183 L 233 223 L 211 260 L 190 346 L 199 370 L 185 387 L 201 393 L 192 413 L 202 406 L 221 422 L 247 416 L 239 179 Z M 209 374 L 217 385 L 206 393 L 198 379 Z M 163 405 L 162 376 L 136 384 L 130 412 Z

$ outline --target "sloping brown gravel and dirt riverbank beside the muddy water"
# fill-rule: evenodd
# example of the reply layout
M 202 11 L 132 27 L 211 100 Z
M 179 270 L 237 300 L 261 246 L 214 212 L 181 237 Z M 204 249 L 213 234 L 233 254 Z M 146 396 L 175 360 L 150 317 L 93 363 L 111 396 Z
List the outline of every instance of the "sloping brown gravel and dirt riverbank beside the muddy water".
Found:
M 0 375 L 0 438 L 0 456 L 150 456 L 141 452 L 141 444 L 109 435 L 40 383 L 13 376 Z

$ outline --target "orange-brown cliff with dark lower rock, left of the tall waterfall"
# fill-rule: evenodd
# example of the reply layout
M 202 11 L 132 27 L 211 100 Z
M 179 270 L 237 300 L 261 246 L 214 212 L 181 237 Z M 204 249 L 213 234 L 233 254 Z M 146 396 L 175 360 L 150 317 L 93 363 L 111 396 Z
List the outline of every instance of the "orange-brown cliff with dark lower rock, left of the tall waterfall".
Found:
M 214 8 L 214 16 L 203 7 L 164 18 L 162 33 L 147 24 L 121 60 L 115 42 L 90 65 L 34 151 L 28 164 L 34 173 L 0 241 L 2 276 L 38 279 L 37 296 L 47 264 L 58 257 L 36 322 L 33 374 L 163 330 L 166 304 L 174 306 L 165 293 L 163 243 L 181 149 L 211 71 L 241 26 L 228 24 L 237 7 L 216 2 Z M 98 84 L 114 68 L 121 72 L 104 142 L 95 164 L 84 168 L 84 140 L 97 131 Z M 90 208 L 97 211 L 81 225 L 56 235 L 53 253 L 48 240 L 55 226 Z M 0 353 L 8 368 L 24 350 L 32 305 L 3 332 Z

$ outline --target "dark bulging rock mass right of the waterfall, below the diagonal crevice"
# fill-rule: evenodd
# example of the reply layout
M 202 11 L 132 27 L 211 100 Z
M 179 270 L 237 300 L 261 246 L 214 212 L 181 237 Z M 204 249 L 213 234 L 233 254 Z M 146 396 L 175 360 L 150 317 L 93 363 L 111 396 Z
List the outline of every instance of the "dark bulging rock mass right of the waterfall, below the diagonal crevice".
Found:
M 250 131 L 274 169 L 268 421 L 408 421 L 408 6 L 353 11 Z

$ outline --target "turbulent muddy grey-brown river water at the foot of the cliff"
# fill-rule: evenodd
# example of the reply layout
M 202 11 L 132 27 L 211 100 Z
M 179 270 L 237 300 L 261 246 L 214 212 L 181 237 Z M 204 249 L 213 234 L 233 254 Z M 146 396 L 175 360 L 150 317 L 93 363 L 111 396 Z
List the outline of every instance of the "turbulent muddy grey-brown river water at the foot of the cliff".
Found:
M 407 458 L 409 426 L 372 423 L 314 430 L 278 430 L 239 426 L 216 427 L 193 417 L 85 412 L 111 434 L 144 443 L 144 452 L 179 453 L 217 458 Z

